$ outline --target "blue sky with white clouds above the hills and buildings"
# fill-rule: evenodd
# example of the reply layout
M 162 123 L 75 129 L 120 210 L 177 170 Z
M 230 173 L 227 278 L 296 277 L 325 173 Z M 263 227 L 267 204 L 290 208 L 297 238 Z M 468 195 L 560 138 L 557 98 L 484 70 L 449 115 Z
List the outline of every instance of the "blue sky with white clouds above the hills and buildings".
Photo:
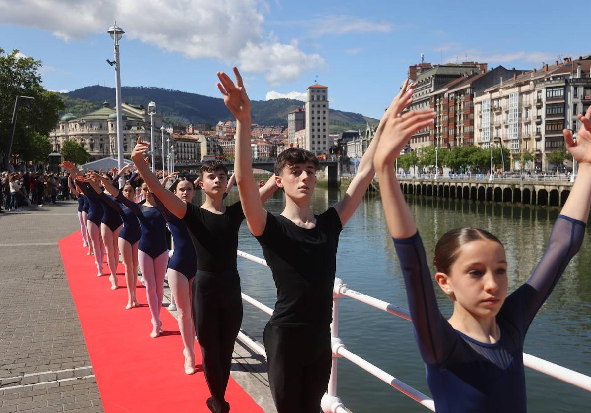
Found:
M 304 100 L 329 87 L 333 109 L 378 118 L 420 63 L 478 61 L 532 70 L 591 53 L 591 6 L 533 1 L 0 0 L 0 48 L 43 62 L 46 89 L 122 86 L 219 97 L 216 71 L 241 69 L 252 100 Z M 577 16 L 581 16 L 578 22 Z M 156 104 L 158 104 L 156 102 Z

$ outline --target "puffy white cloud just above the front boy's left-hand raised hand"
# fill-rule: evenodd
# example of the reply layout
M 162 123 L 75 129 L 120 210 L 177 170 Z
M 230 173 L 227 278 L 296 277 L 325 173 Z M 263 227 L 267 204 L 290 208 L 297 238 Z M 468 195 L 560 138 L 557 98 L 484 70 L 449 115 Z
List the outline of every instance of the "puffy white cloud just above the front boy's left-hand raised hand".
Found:
M 238 55 L 238 63 L 244 71 L 264 73 L 274 86 L 296 80 L 304 71 L 326 64 L 319 54 L 301 51 L 297 40 L 281 44 L 274 38 L 262 43 L 248 42 Z

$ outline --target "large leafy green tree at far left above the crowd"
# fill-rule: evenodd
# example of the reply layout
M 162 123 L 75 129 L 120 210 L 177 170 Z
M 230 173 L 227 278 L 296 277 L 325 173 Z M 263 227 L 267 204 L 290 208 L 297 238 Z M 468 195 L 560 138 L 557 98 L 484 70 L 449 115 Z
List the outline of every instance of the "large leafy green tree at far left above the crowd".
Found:
M 8 149 L 8 139 L 12 122 L 12 112 L 17 96 L 31 96 L 34 100 L 21 102 L 18 107 L 17 126 L 14 132 L 14 158 L 33 160 L 40 158 L 43 151 L 34 153 L 27 140 L 38 139 L 37 133 L 47 136 L 59 120 L 59 112 L 64 109 L 63 101 L 57 93 L 41 86 L 41 61 L 32 57 L 22 57 L 18 50 L 5 53 L 0 48 L 0 151 L 4 155 Z M 26 156 L 17 149 L 29 148 Z M 16 155 L 20 155 L 17 157 Z

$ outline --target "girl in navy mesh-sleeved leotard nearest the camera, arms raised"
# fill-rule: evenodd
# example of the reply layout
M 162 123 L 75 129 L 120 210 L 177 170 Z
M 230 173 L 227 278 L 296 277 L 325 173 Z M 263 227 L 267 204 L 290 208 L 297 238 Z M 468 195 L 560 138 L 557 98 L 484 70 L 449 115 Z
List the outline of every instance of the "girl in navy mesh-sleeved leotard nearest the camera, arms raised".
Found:
M 457 228 L 435 249 L 436 281 L 453 302 L 446 320 L 437 307 L 426 253 L 395 173 L 395 162 L 413 133 L 427 127 L 432 111 L 403 113 L 389 107 L 374 165 L 388 228 L 407 287 L 415 339 L 427 368 L 438 413 L 525 412 L 522 348 L 535 314 L 580 248 L 591 205 L 591 108 L 579 114 L 577 142 L 564 130 L 579 174 L 548 248 L 529 280 L 507 296 L 505 250 L 487 231 Z M 379 129 L 379 128 L 378 128 Z

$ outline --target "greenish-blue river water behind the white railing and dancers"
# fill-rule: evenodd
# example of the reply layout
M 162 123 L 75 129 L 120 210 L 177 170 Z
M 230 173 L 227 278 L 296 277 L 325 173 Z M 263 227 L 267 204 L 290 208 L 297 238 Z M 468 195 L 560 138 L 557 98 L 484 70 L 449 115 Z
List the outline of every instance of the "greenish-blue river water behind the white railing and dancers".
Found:
M 317 188 L 313 211 L 323 212 L 343 192 Z M 203 196 L 203 195 L 201 195 Z M 226 204 L 238 201 L 230 193 Z M 200 195 L 194 202 L 199 204 Z M 505 244 L 509 268 L 509 292 L 530 276 L 544 253 L 558 212 L 527 207 L 475 204 L 434 198 L 408 198 L 427 250 L 429 261 L 439 237 L 456 227 L 479 227 L 493 232 Z M 277 192 L 265 208 L 280 214 L 284 196 Z M 262 257 L 258 242 L 242 224 L 239 249 Z M 525 340 L 525 352 L 567 368 L 591 375 L 591 237 L 587 230 L 583 246 L 541 308 Z M 302 257 L 306 259 L 306 257 Z M 433 268 L 432 268 L 433 269 Z M 271 271 L 238 258 L 242 290 L 273 307 L 276 299 Z M 388 235 L 381 201 L 368 194 L 340 235 L 337 277 L 348 286 L 389 303 L 407 308 L 398 258 Z M 441 311 L 449 316 L 452 306 L 439 288 Z M 267 314 L 244 304 L 242 328 L 262 342 Z M 349 350 L 374 363 L 427 395 L 430 392 L 423 362 L 414 342 L 410 322 L 348 298 L 340 299 L 340 337 Z M 530 412 L 586 412 L 591 394 L 541 373 L 525 369 Z M 426 412 L 417 402 L 391 388 L 348 360 L 339 360 L 338 394 L 355 413 Z M 508 413 L 508 412 L 507 412 Z

